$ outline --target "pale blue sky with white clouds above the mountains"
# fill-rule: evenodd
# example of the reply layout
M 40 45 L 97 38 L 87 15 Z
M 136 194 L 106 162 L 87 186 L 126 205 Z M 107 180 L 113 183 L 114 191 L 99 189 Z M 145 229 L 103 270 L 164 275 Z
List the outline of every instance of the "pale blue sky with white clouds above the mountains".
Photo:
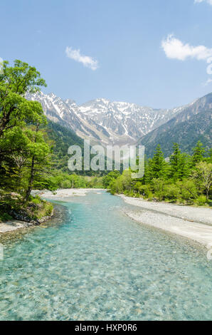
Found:
M 194 2 L 1 0 L 0 57 L 77 103 L 184 105 L 212 91 L 212 0 Z

